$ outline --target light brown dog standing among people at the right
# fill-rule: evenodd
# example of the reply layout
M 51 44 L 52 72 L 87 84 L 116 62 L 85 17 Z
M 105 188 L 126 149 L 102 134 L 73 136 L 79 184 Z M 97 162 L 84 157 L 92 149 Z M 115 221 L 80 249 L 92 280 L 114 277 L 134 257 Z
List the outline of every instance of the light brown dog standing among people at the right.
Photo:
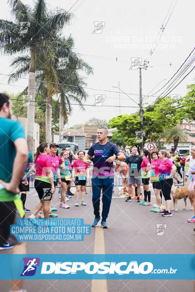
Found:
M 174 185 L 172 185 L 172 188 L 171 188 L 171 195 L 173 197 L 173 200 L 174 200 L 174 207 L 173 207 L 173 211 L 177 211 L 177 202 L 178 200 L 180 199 L 183 199 L 184 200 L 184 203 L 185 203 L 185 207 L 183 208 L 184 210 L 186 209 L 186 205 L 187 205 L 187 197 L 188 197 L 188 188 L 187 187 L 184 187 L 184 188 L 180 188 L 180 187 L 176 187 Z M 190 200 L 190 198 L 189 198 Z M 193 203 L 192 201 L 190 200 L 191 202 L 191 210 L 193 210 Z

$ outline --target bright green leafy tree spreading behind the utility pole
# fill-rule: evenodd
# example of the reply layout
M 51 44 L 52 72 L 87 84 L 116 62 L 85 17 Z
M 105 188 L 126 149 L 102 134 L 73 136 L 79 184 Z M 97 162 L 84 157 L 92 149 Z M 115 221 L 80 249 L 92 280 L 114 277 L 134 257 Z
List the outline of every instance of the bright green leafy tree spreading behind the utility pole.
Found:
M 174 127 L 178 122 L 176 118 L 177 102 L 166 97 L 156 102 L 155 106 L 148 107 L 143 112 L 143 142 L 156 142 L 167 126 Z M 137 146 L 139 150 L 140 117 L 139 113 L 119 115 L 110 121 L 111 128 L 117 128 L 128 146 Z

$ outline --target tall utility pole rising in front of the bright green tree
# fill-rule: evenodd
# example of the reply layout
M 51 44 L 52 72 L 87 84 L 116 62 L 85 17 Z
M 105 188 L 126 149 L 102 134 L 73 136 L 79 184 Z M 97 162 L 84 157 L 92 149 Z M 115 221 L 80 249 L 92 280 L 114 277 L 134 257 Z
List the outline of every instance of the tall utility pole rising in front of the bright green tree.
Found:
M 143 151 L 143 99 L 142 99 L 142 83 L 141 83 L 141 69 L 147 70 L 149 61 L 143 61 L 143 65 L 139 66 L 139 115 L 140 115 L 140 154 Z

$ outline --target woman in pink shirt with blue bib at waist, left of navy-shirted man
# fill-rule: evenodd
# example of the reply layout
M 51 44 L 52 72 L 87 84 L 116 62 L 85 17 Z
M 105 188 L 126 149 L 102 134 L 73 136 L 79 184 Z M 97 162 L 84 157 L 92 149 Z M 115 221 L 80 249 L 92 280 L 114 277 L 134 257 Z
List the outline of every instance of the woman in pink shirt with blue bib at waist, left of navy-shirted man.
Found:
M 76 185 L 75 193 L 75 206 L 78 206 L 78 195 L 80 192 L 81 205 L 86 206 L 84 202 L 85 197 L 85 185 L 89 180 L 89 165 L 84 164 L 83 158 L 85 156 L 85 151 L 78 151 L 78 159 L 73 163 L 73 181 Z

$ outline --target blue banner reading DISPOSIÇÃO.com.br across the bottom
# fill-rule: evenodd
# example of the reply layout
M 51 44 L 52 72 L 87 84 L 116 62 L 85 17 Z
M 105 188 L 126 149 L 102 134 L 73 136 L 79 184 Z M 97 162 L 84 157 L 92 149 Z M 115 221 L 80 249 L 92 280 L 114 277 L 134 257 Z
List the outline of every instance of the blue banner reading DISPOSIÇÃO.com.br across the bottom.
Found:
M 0 279 L 195 279 L 195 255 L 0 255 Z

